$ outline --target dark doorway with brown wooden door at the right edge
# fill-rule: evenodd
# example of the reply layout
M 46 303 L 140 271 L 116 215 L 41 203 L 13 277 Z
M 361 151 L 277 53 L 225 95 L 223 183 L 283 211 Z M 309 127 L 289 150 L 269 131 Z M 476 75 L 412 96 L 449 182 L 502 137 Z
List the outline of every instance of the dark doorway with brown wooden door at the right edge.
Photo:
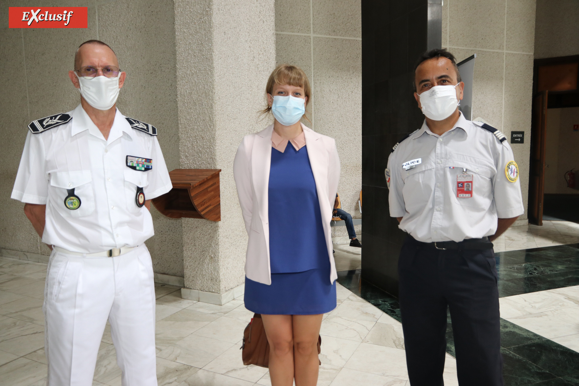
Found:
M 579 222 L 579 56 L 534 61 L 529 222 Z

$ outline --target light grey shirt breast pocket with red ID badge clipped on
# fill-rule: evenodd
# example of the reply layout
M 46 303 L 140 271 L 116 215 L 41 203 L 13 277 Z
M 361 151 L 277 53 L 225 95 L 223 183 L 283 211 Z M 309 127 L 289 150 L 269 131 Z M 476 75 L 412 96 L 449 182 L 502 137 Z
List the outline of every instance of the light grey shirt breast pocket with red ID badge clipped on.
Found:
M 461 161 L 449 161 L 449 166 L 454 167 L 446 168 L 454 202 L 464 207 L 488 209 L 493 202 L 493 171 L 483 165 Z M 456 197 L 456 176 L 463 174 L 463 168 L 466 169 L 466 174 L 472 175 L 472 197 Z

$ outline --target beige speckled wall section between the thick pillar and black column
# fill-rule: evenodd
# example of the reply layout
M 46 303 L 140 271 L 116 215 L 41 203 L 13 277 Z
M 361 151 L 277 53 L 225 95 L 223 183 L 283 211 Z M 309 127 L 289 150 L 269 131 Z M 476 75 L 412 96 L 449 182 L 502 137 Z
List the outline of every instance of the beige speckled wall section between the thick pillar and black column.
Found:
M 362 23 L 360 0 L 276 0 L 276 61 L 303 68 L 312 103 L 303 121 L 336 139 L 342 208 L 360 218 L 362 188 Z M 360 226 L 357 226 L 360 234 Z M 332 236 L 345 236 L 345 227 Z

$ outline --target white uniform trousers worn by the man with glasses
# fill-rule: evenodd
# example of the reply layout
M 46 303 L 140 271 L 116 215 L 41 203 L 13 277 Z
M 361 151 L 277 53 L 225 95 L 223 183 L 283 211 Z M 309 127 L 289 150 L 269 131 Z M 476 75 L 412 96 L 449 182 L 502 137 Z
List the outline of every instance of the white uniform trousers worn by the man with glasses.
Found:
M 107 319 L 123 386 L 157 386 L 155 284 L 144 244 L 114 258 L 50 255 L 43 306 L 48 386 L 91 386 Z

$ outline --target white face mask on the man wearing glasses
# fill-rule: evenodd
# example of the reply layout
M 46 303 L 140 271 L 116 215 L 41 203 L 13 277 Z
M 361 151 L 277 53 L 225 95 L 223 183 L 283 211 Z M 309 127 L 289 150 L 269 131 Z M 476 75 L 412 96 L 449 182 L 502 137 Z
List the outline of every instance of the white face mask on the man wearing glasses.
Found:
M 104 75 L 86 78 L 78 76 L 80 84 L 80 95 L 89 105 L 99 110 L 108 110 L 115 105 L 116 98 L 119 97 L 119 76 L 107 78 Z

